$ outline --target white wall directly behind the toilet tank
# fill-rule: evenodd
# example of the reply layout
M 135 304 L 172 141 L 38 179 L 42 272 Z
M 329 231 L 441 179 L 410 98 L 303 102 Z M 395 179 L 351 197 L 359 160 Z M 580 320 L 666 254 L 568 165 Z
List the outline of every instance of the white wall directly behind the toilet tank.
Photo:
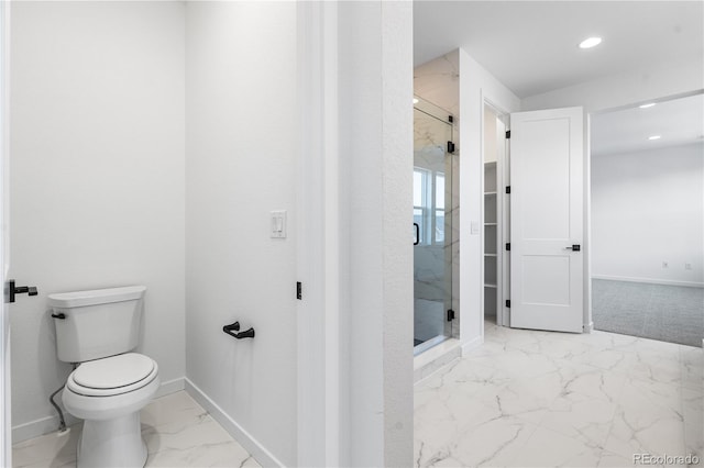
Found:
M 13 2 L 11 307 L 15 442 L 57 427 L 46 294 L 147 287 L 140 350 L 182 386 L 184 5 Z M 18 427 L 19 426 L 19 427 Z

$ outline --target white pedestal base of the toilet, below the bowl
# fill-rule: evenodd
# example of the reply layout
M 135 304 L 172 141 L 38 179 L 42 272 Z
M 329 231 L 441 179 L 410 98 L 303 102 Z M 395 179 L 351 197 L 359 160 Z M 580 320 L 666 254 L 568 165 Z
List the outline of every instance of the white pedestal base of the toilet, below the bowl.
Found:
M 84 421 L 78 468 L 144 467 L 146 456 L 139 411 L 112 420 Z

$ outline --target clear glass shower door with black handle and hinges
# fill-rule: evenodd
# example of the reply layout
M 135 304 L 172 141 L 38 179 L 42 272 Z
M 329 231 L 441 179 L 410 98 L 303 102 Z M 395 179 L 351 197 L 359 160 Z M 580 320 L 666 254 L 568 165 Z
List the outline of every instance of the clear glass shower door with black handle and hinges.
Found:
M 452 141 L 449 113 L 420 101 L 414 109 L 415 353 L 452 335 Z

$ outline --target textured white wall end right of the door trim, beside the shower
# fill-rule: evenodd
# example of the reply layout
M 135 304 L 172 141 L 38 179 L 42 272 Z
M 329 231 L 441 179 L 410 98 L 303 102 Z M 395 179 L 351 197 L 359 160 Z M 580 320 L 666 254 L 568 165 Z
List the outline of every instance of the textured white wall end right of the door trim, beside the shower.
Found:
M 413 5 L 340 2 L 338 51 L 341 461 L 410 466 Z

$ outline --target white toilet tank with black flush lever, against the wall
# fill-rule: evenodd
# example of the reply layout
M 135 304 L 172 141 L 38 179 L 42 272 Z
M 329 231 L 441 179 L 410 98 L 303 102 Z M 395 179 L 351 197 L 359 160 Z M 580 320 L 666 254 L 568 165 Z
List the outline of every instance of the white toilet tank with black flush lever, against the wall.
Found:
M 127 286 L 50 294 L 58 359 L 82 363 L 134 349 L 144 291 L 144 286 Z

